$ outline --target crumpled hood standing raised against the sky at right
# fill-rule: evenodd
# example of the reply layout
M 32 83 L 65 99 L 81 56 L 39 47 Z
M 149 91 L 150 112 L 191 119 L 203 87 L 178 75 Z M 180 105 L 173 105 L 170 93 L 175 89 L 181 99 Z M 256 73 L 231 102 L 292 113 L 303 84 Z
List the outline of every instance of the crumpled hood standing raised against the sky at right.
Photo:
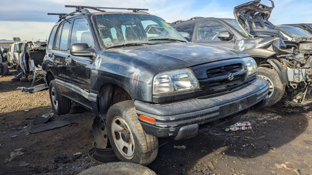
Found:
M 282 37 L 280 31 L 275 29 L 275 26 L 268 21 L 275 7 L 274 2 L 271 1 L 272 7 L 263 5 L 260 2 L 261 0 L 255 0 L 234 7 L 236 21 L 251 35 Z

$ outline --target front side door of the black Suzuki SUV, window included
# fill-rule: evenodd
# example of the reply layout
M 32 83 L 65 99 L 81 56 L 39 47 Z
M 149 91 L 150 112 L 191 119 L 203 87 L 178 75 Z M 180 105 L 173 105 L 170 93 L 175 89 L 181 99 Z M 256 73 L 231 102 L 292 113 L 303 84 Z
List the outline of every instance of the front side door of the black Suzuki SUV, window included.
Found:
M 84 17 L 76 18 L 73 20 L 73 26 L 71 30 L 70 45 L 75 43 L 87 43 L 89 47 L 94 47 L 93 38 L 90 32 L 88 21 Z M 90 57 L 73 56 L 70 51 L 66 52 L 66 83 L 70 83 L 75 86 L 75 89 L 68 95 L 79 102 L 84 102 L 84 105 L 91 106 L 89 100 L 87 100 L 81 91 L 91 91 L 90 85 L 90 73 L 92 60 Z M 76 88 L 77 87 L 77 88 Z M 80 91 L 80 92 L 77 92 Z

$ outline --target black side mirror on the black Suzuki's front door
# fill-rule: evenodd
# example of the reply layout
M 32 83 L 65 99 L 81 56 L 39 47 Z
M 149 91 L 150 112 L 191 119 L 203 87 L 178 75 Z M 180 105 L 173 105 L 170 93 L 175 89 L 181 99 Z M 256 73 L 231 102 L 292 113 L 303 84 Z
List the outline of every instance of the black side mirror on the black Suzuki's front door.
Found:
M 93 47 L 89 47 L 87 43 L 75 43 L 71 45 L 70 53 L 73 56 L 92 57 L 95 53 L 95 49 Z

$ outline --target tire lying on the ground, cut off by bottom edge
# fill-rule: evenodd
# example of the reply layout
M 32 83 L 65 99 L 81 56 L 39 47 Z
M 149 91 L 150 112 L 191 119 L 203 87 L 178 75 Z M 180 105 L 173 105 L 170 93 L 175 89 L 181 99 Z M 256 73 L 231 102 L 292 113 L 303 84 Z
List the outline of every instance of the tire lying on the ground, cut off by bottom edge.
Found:
M 157 175 L 143 165 L 131 162 L 112 162 L 97 165 L 82 171 L 78 175 Z

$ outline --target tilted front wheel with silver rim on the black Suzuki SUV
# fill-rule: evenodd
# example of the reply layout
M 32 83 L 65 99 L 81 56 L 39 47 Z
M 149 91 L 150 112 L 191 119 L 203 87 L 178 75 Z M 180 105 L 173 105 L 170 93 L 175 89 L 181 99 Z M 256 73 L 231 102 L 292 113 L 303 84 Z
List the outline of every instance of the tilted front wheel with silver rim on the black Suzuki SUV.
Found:
M 158 138 L 145 133 L 132 100 L 110 107 L 106 127 L 110 144 L 119 160 L 142 165 L 148 165 L 155 160 L 158 154 Z

